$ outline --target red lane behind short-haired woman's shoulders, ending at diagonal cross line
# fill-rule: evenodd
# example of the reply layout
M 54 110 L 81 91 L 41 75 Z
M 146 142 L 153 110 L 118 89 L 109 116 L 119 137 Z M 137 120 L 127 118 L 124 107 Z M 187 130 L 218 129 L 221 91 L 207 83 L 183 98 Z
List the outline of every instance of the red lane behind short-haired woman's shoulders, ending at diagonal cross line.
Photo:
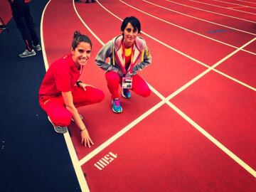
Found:
M 110 4 L 114 3 L 110 2 Z M 102 9 L 99 4 L 95 4 L 95 6 L 79 4 L 79 6 L 76 7 L 82 19 L 90 26 L 92 31 L 97 34 L 103 43 L 107 43 L 107 41 L 110 41 L 114 36 L 121 34 L 120 26 L 122 21 L 112 16 L 112 14 L 105 11 L 105 9 Z M 87 15 L 90 15 L 90 17 Z M 90 18 L 93 18 L 93 20 Z M 102 25 L 99 25 L 99 23 L 102 23 Z M 142 30 L 144 31 L 143 22 Z M 155 87 L 156 90 L 165 97 L 203 70 L 206 70 L 204 66 L 171 50 L 171 48 L 167 48 L 143 34 L 142 36 L 146 39 L 153 62 L 140 74 L 142 74 L 151 86 Z M 160 74 L 161 78 L 159 78 Z

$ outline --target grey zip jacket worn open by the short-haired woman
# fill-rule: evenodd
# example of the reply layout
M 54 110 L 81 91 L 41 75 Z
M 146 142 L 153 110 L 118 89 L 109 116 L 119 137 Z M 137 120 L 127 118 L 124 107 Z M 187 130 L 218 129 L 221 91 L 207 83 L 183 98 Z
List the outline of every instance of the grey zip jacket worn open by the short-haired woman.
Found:
M 135 75 L 138 71 L 143 70 L 151 64 L 151 54 L 149 53 L 149 48 L 146 47 L 146 41 L 144 38 L 137 36 L 134 41 L 133 47 L 133 57 L 131 65 L 128 70 L 125 70 L 122 63 L 124 63 L 124 58 L 122 55 L 122 41 L 123 36 L 114 37 L 111 41 L 105 44 L 97 54 L 95 58 L 95 63 L 97 66 L 105 70 L 106 72 L 113 70 L 123 77 L 129 72 L 131 75 Z M 106 63 L 106 59 L 110 58 L 109 63 Z

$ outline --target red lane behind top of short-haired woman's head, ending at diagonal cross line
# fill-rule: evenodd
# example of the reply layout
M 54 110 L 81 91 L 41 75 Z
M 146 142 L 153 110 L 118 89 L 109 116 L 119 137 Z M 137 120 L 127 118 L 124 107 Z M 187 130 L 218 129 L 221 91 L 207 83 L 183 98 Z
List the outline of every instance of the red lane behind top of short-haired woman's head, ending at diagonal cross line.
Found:
M 102 1 L 102 5 L 119 16 L 119 18 L 125 18 L 127 13 L 129 13 L 129 15 L 137 16 L 140 21 L 144 23 L 143 28 L 145 33 L 158 38 L 169 46 L 172 46 L 197 60 L 201 60 L 208 65 L 213 65 L 234 50 L 234 48 L 210 41 L 201 36 L 196 36 L 181 28 L 170 26 L 156 18 L 142 14 L 126 4 L 122 4 L 120 1 L 114 1 L 112 4 L 110 4 L 109 1 Z M 213 51 L 215 51 L 214 54 Z

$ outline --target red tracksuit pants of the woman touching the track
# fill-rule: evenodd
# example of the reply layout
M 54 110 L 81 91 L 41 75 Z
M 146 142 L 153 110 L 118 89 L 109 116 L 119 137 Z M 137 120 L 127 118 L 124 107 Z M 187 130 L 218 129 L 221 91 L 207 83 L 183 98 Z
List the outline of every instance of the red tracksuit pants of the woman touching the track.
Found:
M 101 90 L 94 87 L 86 87 L 86 90 L 74 87 L 72 95 L 75 107 L 101 102 L 105 97 Z M 70 124 L 72 114 L 65 108 L 62 95 L 58 97 L 39 96 L 39 104 L 46 111 L 53 124 L 62 127 Z

